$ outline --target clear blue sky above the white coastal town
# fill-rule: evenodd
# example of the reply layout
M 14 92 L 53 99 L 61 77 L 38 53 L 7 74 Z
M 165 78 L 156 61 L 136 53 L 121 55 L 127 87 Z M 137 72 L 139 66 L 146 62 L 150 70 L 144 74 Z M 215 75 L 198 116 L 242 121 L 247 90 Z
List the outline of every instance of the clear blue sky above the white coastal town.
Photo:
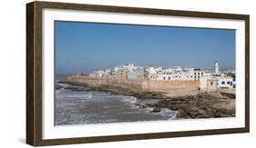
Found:
M 235 67 L 235 30 L 56 21 L 56 73 L 118 64 Z

